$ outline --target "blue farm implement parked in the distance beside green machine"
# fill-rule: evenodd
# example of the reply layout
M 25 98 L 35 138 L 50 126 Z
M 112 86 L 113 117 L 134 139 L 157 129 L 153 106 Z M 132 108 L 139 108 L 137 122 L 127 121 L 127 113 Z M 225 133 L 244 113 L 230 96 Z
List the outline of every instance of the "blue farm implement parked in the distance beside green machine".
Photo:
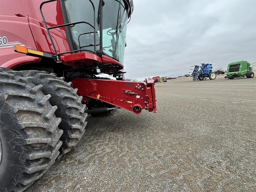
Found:
M 201 66 L 195 65 L 194 70 L 192 72 L 193 81 L 195 80 L 204 80 L 205 78 L 209 78 L 213 80 L 216 78 L 216 73 L 212 72 L 212 64 L 204 64 L 202 63 Z

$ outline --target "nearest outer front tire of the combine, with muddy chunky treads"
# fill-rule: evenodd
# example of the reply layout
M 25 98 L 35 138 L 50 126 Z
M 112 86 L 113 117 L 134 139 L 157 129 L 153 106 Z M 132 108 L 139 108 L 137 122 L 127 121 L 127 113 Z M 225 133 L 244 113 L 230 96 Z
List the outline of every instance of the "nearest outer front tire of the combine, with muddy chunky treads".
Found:
M 52 166 L 62 142 L 42 85 L 0 68 L 0 191 L 23 191 Z

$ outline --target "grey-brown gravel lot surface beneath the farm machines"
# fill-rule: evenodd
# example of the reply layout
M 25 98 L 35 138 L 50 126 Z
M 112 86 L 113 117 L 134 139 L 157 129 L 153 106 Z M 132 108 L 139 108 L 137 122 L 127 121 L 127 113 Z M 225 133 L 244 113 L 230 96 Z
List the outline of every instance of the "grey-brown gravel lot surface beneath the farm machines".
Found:
M 88 116 L 27 192 L 256 191 L 256 78 L 156 84 L 156 114 Z

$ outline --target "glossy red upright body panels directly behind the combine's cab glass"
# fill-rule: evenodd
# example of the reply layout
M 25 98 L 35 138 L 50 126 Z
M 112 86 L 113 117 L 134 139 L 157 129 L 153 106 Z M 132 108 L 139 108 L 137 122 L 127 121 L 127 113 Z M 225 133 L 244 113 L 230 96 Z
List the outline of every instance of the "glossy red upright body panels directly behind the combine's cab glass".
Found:
M 42 21 L 42 16 L 39 11 L 39 7 L 42 2 L 43 0 L 22 0 L 21 5 L 22 8 L 24 7 L 25 14 L 28 14 L 29 16 L 28 20 L 30 29 L 38 50 L 50 54 L 55 54 L 52 42 L 50 41 L 49 35 L 46 31 L 44 22 Z M 44 4 L 42 7 L 42 12 L 45 16 L 48 27 L 64 24 L 59 1 Z M 66 38 L 65 27 L 52 29 L 50 30 L 50 34 L 52 35 L 52 39 L 58 52 L 70 51 L 70 46 Z

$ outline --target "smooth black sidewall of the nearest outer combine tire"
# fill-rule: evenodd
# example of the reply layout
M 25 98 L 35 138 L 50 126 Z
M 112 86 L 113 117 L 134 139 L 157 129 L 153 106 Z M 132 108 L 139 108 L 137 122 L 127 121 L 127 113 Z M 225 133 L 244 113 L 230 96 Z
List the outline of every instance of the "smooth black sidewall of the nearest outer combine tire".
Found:
M 5 102 L 0 98 L 1 102 Z M 2 143 L 2 158 L 0 163 L 0 191 L 10 191 L 13 184 L 8 183 L 11 180 L 19 180 L 21 178 L 20 168 L 24 166 L 23 158 L 20 154 L 26 154 L 24 148 L 24 135 L 13 109 L 6 102 L 2 108 L 0 116 L 0 138 Z M 6 126 L 7 125 L 7 126 Z M 24 132 L 22 134 L 22 132 Z M 15 185 L 15 184 L 14 184 Z

